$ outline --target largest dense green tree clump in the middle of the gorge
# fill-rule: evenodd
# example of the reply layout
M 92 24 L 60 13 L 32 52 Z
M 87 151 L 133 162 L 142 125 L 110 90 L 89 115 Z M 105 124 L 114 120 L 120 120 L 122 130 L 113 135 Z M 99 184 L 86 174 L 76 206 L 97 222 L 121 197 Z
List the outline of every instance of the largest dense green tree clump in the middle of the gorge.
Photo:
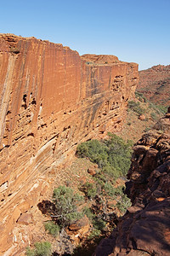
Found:
M 131 164 L 132 143 L 126 143 L 121 137 L 111 133 L 108 135 L 108 140 L 91 140 L 78 145 L 77 156 L 88 157 L 98 164 L 101 172 L 110 177 L 124 176 Z

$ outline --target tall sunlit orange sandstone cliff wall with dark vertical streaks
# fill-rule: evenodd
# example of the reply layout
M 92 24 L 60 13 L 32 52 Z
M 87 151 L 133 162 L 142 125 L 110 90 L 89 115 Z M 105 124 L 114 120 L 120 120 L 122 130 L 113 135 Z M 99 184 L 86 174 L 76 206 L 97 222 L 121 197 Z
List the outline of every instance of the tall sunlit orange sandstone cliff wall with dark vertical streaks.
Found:
M 122 126 L 138 65 L 83 55 L 62 44 L 0 34 L 0 247 L 23 242 L 20 215 L 50 188 L 49 172 L 77 143 Z

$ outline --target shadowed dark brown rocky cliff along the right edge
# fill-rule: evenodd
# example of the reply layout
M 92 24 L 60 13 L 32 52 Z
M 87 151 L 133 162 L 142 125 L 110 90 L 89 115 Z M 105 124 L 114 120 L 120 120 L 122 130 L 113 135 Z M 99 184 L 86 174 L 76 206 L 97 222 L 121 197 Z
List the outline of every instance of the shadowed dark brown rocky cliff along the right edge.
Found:
M 160 123 L 163 133 L 150 131 L 133 148 L 127 174 L 132 207 L 96 256 L 170 254 L 170 113 Z

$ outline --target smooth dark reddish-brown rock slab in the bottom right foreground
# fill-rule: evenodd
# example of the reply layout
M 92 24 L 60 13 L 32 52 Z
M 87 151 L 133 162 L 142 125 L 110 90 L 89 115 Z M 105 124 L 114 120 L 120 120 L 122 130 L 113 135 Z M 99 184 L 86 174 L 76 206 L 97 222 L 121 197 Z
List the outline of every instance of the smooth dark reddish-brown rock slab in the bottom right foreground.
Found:
M 118 231 L 101 241 L 94 255 L 108 256 L 115 246 L 119 248 L 120 255 L 127 255 L 130 250 L 142 250 L 150 255 L 170 255 L 169 219 L 170 198 L 150 202 L 143 211 L 134 214 L 127 212 L 118 224 Z M 114 255 L 119 253 L 116 250 Z

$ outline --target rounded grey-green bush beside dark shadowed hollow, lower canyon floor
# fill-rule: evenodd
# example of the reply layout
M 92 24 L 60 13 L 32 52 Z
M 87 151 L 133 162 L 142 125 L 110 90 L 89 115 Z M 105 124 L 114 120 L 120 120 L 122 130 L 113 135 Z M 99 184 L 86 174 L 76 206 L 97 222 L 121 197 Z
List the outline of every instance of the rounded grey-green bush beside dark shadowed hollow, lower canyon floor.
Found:
M 60 226 L 72 224 L 82 218 L 82 212 L 77 211 L 77 206 L 82 202 L 82 196 L 75 194 L 73 189 L 59 186 L 54 189 L 55 218 Z

